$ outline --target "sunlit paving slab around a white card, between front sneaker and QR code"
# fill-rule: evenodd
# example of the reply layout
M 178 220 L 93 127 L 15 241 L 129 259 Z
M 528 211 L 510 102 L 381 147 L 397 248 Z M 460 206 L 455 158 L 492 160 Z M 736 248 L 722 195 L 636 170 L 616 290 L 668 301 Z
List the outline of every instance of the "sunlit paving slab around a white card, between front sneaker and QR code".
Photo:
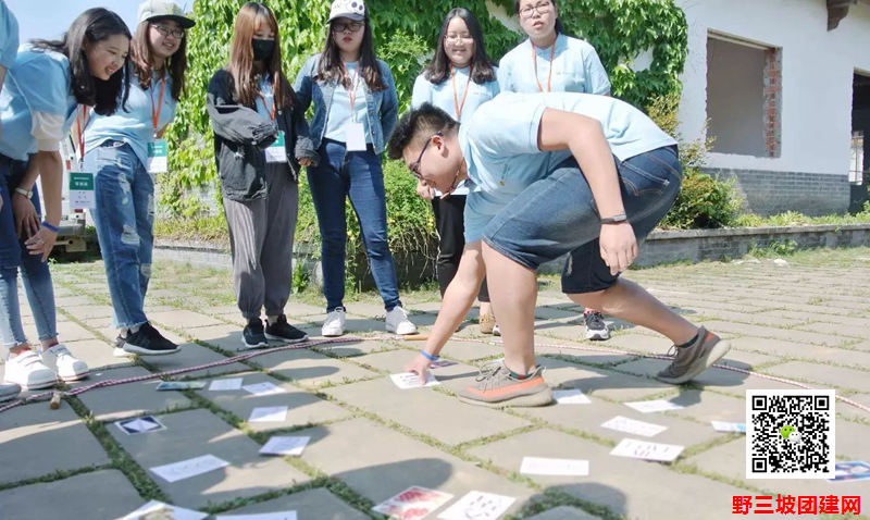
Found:
M 542 419 L 549 424 L 557 424 L 580 432 L 591 433 L 598 437 L 612 441 L 613 444 L 618 444 L 627 436 L 652 443 L 676 444 L 688 447 L 696 444 L 704 444 L 722 436 L 721 433 L 716 432 L 709 424 L 700 425 L 685 419 L 669 417 L 663 413 L 641 413 L 625 405 L 613 405 L 595 398 L 592 398 L 592 405 L 557 404 L 540 408 L 515 408 L 514 411 L 520 414 Z M 668 430 L 652 437 L 641 437 L 601 428 L 601 424 L 618 416 L 649 424 L 666 426 Z

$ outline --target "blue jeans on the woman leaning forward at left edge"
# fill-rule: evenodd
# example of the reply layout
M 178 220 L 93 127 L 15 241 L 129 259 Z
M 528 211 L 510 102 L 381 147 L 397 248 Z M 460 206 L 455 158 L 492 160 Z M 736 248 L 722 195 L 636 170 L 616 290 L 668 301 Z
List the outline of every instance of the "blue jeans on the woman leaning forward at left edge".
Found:
M 41 257 L 28 253 L 24 239 L 15 236 L 10 194 L 15 193 L 26 170 L 27 161 L 13 161 L 0 156 L 0 196 L 3 197 L 3 208 L 0 209 L 0 338 L 7 348 L 27 343 L 18 308 L 18 267 L 22 268 L 24 290 L 39 339 L 58 336 L 54 286 L 48 263 Z M 41 214 L 39 193 L 36 186 L 33 189 L 30 200 L 36 212 Z

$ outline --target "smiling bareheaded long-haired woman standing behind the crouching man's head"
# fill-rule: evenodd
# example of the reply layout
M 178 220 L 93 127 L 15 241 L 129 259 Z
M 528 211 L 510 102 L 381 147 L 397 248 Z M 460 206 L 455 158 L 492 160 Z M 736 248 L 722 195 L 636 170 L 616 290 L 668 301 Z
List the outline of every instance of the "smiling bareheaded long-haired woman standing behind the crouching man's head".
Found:
M 414 82 L 411 107 L 432 103 L 463 123 L 471 120 L 477 107 L 498 94 L 495 62 L 486 53 L 483 30 L 474 13 L 457 8 L 447 13 L 432 62 Z M 436 268 L 442 297 L 456 276 L 462 249 L 465 197 L 469 188 L 459 186 L 449 194 L 418 184 L 417 193 L 432 200 L 435 226 L 438 231 Z M 492 334 L 495 326 L 493 307 L 486 281 L 477 295 L 481 302 L 481 332 Z

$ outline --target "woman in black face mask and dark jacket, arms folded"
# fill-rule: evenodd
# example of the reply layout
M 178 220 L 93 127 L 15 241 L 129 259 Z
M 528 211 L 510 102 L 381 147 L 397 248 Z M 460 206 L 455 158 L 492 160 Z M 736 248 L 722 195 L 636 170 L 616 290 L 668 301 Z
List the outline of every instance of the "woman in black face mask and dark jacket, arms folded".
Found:
M 300 166 L 316 164 L 304 112 L 281 65 L 272 10 L 247 3 L 238 13 L 229 64 L 211 79 L 207 106 L 233 251 L 233 285 L 247 348 L 308 336 L 287 323 Z M 260 313 L 265 307 L 268 323 Z

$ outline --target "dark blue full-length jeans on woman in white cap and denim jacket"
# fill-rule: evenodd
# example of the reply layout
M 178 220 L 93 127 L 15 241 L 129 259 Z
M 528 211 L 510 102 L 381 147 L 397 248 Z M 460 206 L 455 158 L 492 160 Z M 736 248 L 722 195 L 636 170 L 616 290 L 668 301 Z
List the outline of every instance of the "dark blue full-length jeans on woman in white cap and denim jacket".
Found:
M 396 264 L 387 242 L 387 203 L 381 156 L 372 151 L 371 145 L 366 151 L 348 152 L 344 143 L 330 139 L 323 140 L 319 153 L 320 165 L 308 169 L 308 184 L 323 239 L 321 262 L 326 311 L 343 307 L 345 299 L 345 199 L 348 196 L 360 223 L 374 283 L 384 307 L 390 311 L 401 306 L 401 301 Z

